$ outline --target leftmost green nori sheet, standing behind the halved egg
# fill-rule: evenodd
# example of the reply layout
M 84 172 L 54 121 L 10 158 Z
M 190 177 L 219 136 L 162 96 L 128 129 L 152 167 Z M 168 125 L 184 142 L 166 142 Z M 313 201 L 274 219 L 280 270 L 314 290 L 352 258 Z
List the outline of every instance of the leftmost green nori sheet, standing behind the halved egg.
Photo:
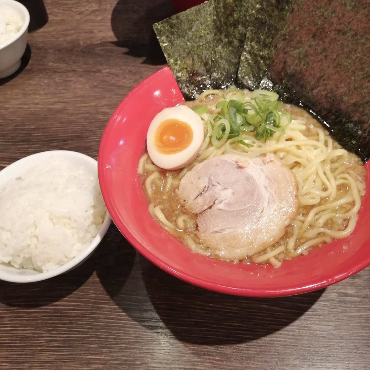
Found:
M 188 100 L 211 87 L 213 0 L 153 25 L 179 88 Z

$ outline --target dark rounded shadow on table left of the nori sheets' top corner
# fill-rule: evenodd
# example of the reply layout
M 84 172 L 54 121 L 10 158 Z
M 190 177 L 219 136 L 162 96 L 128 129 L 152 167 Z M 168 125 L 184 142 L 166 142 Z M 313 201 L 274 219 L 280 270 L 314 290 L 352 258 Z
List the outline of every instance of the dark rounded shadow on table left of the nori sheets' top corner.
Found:
M 117 38 L 113 44 L 127 48 L 125 54 L 145 57 L 144 64 L 165 64 L 153 24 L 175 13 L 169 1 L 118 0 L 111 16 L 112 31 Z

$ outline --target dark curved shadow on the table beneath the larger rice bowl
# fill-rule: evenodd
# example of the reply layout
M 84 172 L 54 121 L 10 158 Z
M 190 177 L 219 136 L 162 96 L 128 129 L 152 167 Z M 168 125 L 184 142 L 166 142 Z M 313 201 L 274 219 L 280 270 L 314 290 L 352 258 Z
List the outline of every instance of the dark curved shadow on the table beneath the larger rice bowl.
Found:
M 0 281 L 0 302 L 11 307 L 33 308 L 46 306 L 67 297 L 89 279 L 96 271 L 102 280 L 111 278 L 112 266 L 125 263 L 124 273 L 119 284 L 124 284 L 126 269 L 129 269 L 132 247 L 122 248 L 124 238 L 114 225 L 111 225 L 94 254 L 82 265 L 59 276 L 35 283 L 9 283 Z M 134 258 L 131 259 L 131 267 Z M 110 286 L 114 286 L 115 281 Z

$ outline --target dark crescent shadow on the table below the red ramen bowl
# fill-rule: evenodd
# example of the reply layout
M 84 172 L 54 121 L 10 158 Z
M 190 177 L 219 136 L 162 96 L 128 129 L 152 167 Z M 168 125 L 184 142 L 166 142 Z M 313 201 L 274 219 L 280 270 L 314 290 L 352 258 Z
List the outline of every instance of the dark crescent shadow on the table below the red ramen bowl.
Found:
M 140 263 L 158 316 L 176 339 L 194 344 L 237 344 L 267 336 L 297 320 L 324 292 L 277 298 L 231 296 L 185 283 L 144 258 Z

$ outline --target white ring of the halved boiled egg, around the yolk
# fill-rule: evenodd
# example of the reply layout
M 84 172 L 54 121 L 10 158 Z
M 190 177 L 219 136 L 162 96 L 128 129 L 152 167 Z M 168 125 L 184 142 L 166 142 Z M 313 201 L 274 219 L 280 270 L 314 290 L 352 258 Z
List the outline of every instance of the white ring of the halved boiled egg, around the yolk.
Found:
M 155 130 L 158 125 L 168 119 L 176 119 L 186 122 L 193 131 L 193 139 L 190 145 L 175 154 L 163 154 L 155 148 Z M 199 153 L 204 140 L 204 129 L 201 117 L 186 105 L 176 105 L 176 107 L 165 108 L 159 112 L 152 120 L 147 133 L 147 150 L 150 159 L 158 167 L 174 170 L 184 168 Z

